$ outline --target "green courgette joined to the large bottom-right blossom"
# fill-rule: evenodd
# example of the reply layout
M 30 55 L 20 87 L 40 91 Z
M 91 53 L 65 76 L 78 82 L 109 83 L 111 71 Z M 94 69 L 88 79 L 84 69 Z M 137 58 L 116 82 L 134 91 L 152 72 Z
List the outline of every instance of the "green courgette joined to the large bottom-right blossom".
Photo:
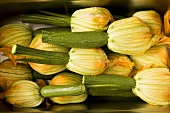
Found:
M 132 89 L 135 87 L 135 80 L 128 76 L 100 74 L 98 76 L 84 75 L 83 81 L 86 87 L 93 85 L 111 85 L 117 88 Z

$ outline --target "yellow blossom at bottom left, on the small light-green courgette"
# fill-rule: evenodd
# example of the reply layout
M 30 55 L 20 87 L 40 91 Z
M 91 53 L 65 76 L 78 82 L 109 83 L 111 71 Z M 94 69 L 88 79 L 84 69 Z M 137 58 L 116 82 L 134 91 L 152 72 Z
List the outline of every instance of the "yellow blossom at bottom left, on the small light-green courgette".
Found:
M 13 83 L 5 93 L 6 101 L 16 107 L 36 107 L 44 98 L 40 95 L 40 87 L 33 81 L 20 80 Z

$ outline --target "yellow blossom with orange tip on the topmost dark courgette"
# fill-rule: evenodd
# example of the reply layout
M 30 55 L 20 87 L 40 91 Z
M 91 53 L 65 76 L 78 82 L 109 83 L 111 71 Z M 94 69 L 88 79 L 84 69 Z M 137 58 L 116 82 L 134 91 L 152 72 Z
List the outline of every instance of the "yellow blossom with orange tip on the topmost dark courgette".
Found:
M 72 32 L 104 31 L 113 21 L 113 16 L 106 8 L 90 7 L 75 11 L 70 26 Z

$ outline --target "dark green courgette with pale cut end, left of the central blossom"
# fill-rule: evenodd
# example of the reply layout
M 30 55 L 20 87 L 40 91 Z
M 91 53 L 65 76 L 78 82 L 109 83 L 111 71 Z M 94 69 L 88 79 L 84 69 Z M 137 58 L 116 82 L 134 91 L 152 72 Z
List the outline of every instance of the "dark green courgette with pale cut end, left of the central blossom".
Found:
M 19 61 L 40 64 L 62 65 L 69 61 L 69 55 L 66 52 L 45 51 L 17 44 L 12 47 L 12 54 L 21 56 L 17 59 Z

